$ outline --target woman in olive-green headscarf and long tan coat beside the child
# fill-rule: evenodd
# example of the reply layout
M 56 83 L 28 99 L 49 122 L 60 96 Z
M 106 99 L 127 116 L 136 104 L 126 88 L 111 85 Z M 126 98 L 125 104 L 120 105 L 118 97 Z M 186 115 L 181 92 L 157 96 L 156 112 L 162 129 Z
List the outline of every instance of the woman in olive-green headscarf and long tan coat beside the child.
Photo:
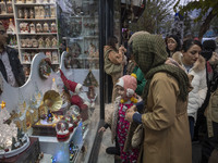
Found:
M 189 77 L 179 66 L 166 64 L 168 53 L 161 36 L 135 33 L 132 53 L 147 80 L 142 114 L 129 111 L 125 118 L 144 126 L 137 162 L 191 163 L 187 121 Z

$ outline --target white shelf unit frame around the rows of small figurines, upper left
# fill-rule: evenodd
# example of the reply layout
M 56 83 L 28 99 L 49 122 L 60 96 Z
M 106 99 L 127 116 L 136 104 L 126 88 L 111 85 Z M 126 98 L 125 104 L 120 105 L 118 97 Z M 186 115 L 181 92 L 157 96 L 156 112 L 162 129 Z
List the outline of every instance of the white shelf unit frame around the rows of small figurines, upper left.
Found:
M 15 26 L 16 26 L 16 38 L 17 38 L 17 49 L 19 49 L 19 53 L 20 53 L 20 60 L 21 63 L 24 65 L 29 65 L 31 66 L 31 62 L 25 61 L 27 58 L 27 55 L 29 57 L 28 60 L 33 59 L 33 53 L 38 53 L 38 52 L 44 52 L 46 54 L 51 54 L 49 55 L 49 58 L 51 59 L 51 64 L 52 65 L 57 65 L 57 62 L 60 63 L 60 51 L 59 51 L 59 35 L 58 35 L 58 20 L 57 20 L 57 4 L 55 2 L 51 3 L 16 3 L 16 0 L 13 0 L 13 10 L 14 10 L 14 18 L 15 18 Z M 56 10 L 56 15 L 51 17 L 51 7 L 52 9 L 55 8 Z M 36 17 L 36 8 L 43 8 L 43 11 L 46 13 L 46 10 L 48 10 L 49 15 L 45 15 L 44 17 Z M 24 16 L 24 12 L 25 10 L 28 12 L 28 16 L 25 17 Z M 39 9 L 38 9 L 39 10 Z M 20 12 L 23 12 L 23 17 L 20 17 Z M 36 18 L 29 18 L 31 17 L 31 11 L 34 12 L 34 17 Z M 20 14 L 20 15 L 19 15 Z M 48 24 L 49 27 L 49 33 L 48 32 L 41 32 L 41 33 L 31 33 L 29 29 L 26 33 L 21 32 L 21 25 L 23 24 L 27 24 L 28 28 L 31 24 L 35 25 L 35 29 L 36 29 L 36 25 L 40 24 L 41 28 L 44 27 L 45 23 Z M 56 33 L 50 33 L 51 32 L 51 23 L 56 24 Z M 41 48 L 36 48 L 33 45 L 26 46 L 26 39 L 29 39 L 31 41 L 33 41 L 33 39 L 37 40 L 37 43 L 39 43 L 39 39 L 43 39 L 44 41 L 44 46 Z M 56 38 L 56 42 L 57 46 L 53 47 L 51 46 L 52 43 L 52 39 Z M 46 43 L 48 41 L 46 41 L 46 39 L 50 40 L 50 46 L 46 46 Z M 35 41 L 36 41 L 35 40 Z M 25 42 L 24 46 L 22 45 L 22 41 Z M 47 48 L 49 47 L 49 48 Z M 56 55 L 56 58 L 52 58 L 52 54 Z M 57 57 L 58 57 L 58 61 L 57 61 Z M 53 61 L 56 59 L 56 61 Z

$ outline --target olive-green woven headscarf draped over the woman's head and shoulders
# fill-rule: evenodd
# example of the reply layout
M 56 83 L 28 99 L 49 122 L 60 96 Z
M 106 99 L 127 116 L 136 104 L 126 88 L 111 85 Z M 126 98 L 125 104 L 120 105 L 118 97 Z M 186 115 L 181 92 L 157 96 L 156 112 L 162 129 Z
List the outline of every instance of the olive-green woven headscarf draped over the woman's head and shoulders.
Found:
M 180 67 L 165 64 L 168 53 L 166 51 L 166 43 L 161 36 L 138 32 L 132 36 L 131 40 L 132 42 L 130 43 L 132 43 L 134 60 L 147 80 L 143 95 L 145 103 L 150 80 L 158 72 L 168 73 L 178 80 L 180 87 L 179 97 L 185 101 L 189 95 L 187 75 Z

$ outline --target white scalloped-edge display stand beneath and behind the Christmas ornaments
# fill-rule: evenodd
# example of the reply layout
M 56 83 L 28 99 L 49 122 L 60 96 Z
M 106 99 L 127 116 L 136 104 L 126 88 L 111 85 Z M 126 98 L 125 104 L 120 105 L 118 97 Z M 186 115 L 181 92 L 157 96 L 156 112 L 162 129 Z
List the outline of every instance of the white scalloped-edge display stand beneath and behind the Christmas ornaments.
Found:
M 66 53 L 64 52 L 62 54 L 62 60 L 61 60 L 61 65 L 60 68 L 64 74 L 71 78 L 75 76 L 71 76 L 72 73 L 75 73 L 78 75 L 76 78 L 78 82 L 81 79 L 84 80 L 85 76 L 88 74 L 88 70 L 80 70 L 80 72 L 76 72 L 76 70 L 65 70 L 64 64 L 63 64 L 63 58 Z M 11 87 L 2 77 L 2 74 L 0 74 L 3 84 L 2 84 L 2 93 L 0 95 L 0 101 L 4 101 L 7 103 L 7 110 L 8 112 L 12 112 L 13 110 L 15 112 L 19 112 L 19 102 L 20 98 L 22 97 L 26 103 L 29 103 L 29 98 L 35 95 L 36 92 L 36 86 L 38 88 L 37 91 L 40 91 L 43 95 L 50 90 L 52 87 L 52 79 L 55 78 L 57 80 L 57 84 L 60 82 L 60 76 L 59 73 L 55 73 L 51 71 L 50 75 L 48 78 L 41 78 L 39 75 L 39 63 L 43 59 L 45 59 L 46 55 L 44 53 L 38 53 L 37 55 L 34 57 L 32 67 L 31 67 L 31 75 L 29 78 L 27 79 L 26 84 L 20 88 Z M 75 72 L 74 72 L 75 71 Z M 83 73 L 82 73 L 83 72 Z M 98 72 L 94 72 L 95 75 L 98 75 Z M 71 77 L 70 77 L 71 76 Z M 85 97 L 85 92 L 84 92 Z M 87 97 L 86 97 L 87 98 Z M 12 100 L 13 99 L 13 100 Z M 26 106 L 26 111 L 28 110 L 28 106 Z M 99 110 L 98 110 L 99 111 Z M 97 112 L 98 112 L 97 111 Z M 95 116 L 95 121 L 97 121 L 99 117 L 98 115 Z M 93 126 L 96 127 L 94 124 Z M 32 135 L 32 128 L 27 128 L 27 133 L 31 136 Z M 78 126 L 74 128 L 74 131 L 70 135 L 70 138 L 66 141 L 58 141 L 57 137 L 46 137 L 46 136 L 34 136 L 38 137 L 39 143 L 40 143 L 40 149 L 43 152 L 47 154 L 51 154 L 55 160 L 57 160 L 60 163 L 68 163 L 68 162 L 76 162 L 77 156 L 80 155 L 80 150 L 84 143 L 84 139 L 89 135 L 90 129 L 87 127 L 85 130 L 83 130 L 83 124 L 82 122 L 78 123 Z M 93 130 L 92 133 L 96 133 L 96 129 Z M 88 138 L 92 137 L 89 136 Z M 93 142 L 93 140 L 90 141 Z M 75 147 L 73 149 L 73 153 L 71 149 L 69 148 L 70 145 Z M 92 149 L 92 146 L 88 147 L 88 149 Z M 72 156 L 74 155 L 74 156 Z

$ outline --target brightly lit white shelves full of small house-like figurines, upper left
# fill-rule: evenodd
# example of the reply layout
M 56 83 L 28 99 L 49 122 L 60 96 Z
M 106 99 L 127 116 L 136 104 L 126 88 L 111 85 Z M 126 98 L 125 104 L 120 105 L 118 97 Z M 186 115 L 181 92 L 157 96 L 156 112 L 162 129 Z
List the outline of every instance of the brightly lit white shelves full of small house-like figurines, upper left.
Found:
M 14 0 L 19 53 L 25 67 L 44 52 L 51 64 L 60 63 L 57 4 L 55 0 Z M 26 68 L 28 72 L 29 68 Z M 28 73 L 26 73 L 28 74 Z

